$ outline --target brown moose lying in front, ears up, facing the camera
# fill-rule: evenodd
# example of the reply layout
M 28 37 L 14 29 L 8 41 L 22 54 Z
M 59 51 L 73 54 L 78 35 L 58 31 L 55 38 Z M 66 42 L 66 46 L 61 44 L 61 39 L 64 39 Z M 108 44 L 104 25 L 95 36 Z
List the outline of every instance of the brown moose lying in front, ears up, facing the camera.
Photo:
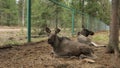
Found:
M 94 58 L 94 51 L 89 46 L 77 41 L 70 40 L 67 37 L 57 36 L 60 31 L 61 30 L 57 28 L 54 33 L 51 33 L 51 30 L 46 27 L 46 32 L 49 36 L 48 44 L 52 46 L 55 55 L 60 57 L 82 56 L 82 58 L 84 55 L 85 57 Z

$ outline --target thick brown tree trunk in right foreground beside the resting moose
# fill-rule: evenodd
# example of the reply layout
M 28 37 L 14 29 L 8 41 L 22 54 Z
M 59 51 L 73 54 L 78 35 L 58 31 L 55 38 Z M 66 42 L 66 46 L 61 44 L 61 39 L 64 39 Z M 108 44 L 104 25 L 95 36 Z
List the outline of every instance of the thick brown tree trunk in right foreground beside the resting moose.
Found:
M 114 52 L 114 48 L 118 49 L 119 37 L 119 21 L 118 21 L 118 0 L 112 1 L 112 22 L 110 23 L 110 36 L 108 52 Z

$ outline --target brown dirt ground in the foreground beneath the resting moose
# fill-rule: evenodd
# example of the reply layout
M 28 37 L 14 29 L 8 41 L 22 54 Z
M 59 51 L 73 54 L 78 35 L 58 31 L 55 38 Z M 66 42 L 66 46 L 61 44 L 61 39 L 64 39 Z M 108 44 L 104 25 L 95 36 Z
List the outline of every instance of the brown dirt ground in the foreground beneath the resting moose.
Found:
M 105 47 L 93 48 L 98 56 L 95 63 L 77 58 L 57 58 L 46 41 L 0 49 L 0 68 L 113 68 L 113 54 Z

